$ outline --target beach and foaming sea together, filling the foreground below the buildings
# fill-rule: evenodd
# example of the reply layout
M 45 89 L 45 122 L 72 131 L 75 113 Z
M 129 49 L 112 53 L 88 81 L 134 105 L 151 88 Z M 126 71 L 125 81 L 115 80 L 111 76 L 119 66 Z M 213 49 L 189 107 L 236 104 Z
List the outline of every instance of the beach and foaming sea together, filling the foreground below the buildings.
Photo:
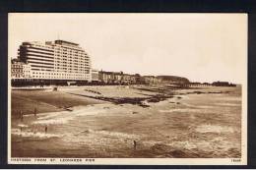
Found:
M 11 100 L 12 157 L 241 156 L 241 86 L 17 89 Z

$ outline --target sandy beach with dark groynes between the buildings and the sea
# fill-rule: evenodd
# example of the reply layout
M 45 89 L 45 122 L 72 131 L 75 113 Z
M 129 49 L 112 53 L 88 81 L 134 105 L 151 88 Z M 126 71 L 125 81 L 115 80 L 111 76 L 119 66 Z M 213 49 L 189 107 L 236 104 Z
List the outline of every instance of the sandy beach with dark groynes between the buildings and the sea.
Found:
M 60 86 L 57 91 L 48 90 L 49 87 L 12 89 L 12 118 L 19 118 L 19 111 L 33 114 L 34 108 L 37 113 L 72 111 L 72 107 L 78 105 L 90 105 L 110 102 L 113 104 L 135 104 L 142 107 L 150 107 L 149 102 L 160 102 L 175 95 L 187 94 L 221 94 L 228 90 L 209 90 L 211 87 L 179 88 L 157 87 L 145 85 L 98 85 L 98 86 Z M 212 87 L 215 89 L 215 87 Z M 224 87 L 232 88 L 232 87 Z M 25 90 L 24 90 L 25 89 Z M 101 92 L 102 93 L 101 93 Z M 105 92 L 106 91 L 106 92 Z M 117 92 L 116 92 L 117 91 Z M 123 91 L 126 93 L 124 94 Z M 187 92 L 183 92 L 187 91 Z M 109 93 L 116 92 L 111 95 Z M 24 101 L 25 104 L 22 104 Z

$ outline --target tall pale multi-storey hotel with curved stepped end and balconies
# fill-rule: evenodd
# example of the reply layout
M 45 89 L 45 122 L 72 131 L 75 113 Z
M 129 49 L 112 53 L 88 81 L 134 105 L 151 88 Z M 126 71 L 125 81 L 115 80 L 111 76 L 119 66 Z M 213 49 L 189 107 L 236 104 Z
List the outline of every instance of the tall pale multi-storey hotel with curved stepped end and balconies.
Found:
M 29 78 L 25 79 L 92 81 L 90 57 L 77 43 L 23 42 L 18 54 L 18 60 L 31 67 Z

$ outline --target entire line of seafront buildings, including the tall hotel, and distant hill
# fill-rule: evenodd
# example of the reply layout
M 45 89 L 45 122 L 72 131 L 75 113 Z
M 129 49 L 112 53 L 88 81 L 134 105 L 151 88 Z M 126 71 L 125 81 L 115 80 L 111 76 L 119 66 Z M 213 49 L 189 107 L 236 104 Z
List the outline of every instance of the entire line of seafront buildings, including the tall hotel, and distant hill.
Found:
M 23 42 L 11 62 L 12 85 L 210 85 L 175 76 L 140 76 L 92 69 L 91 58 L 77 43 L 66 40 Z M 229 85 L 217 82 L 213 85 Z

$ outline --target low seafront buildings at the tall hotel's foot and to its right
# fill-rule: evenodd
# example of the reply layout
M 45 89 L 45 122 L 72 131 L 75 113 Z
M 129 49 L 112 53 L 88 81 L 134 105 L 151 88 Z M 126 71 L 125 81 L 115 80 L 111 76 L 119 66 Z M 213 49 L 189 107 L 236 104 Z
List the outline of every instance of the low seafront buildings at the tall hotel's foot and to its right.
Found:
M 168 84 L 168 83 L 181 83 L 180 81 L 164 81 L 161 77 L 155 76 L 140 76 L 139 74 L 125 74 L 123 72 L 106 72 L 91 69 L 91 79 L 78 80 L 73 79 L 61 79 L 58 74 L 52 72 L 52 77 L 45 76 L 43 72 L 35 73 L 32 70 L 31 64 L 21 62 L 18 59 L 12 60 L 11 66 L 12 84 L 13 85 L 70 85 L 70 83 L 76 85 L 157 85 L 157 84 Z M 70 78 L 70 77 L 68 77 Z M 188 81 L 183 81 L 188 83 Z

